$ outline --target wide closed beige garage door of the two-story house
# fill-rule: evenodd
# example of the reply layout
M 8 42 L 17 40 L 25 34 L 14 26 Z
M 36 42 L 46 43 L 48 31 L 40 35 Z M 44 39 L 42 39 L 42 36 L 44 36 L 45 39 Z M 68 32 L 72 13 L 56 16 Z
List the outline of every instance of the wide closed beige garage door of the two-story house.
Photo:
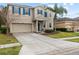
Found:
M 31 24 L 12 24 L 11 32 L 31 32 Z

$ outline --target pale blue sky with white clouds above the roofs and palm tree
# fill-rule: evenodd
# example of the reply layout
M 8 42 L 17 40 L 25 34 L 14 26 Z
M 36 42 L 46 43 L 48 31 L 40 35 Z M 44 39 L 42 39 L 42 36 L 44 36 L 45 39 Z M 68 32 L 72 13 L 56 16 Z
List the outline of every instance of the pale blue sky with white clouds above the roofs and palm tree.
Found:
M 54 3 L 21 3 L 22 5 L 29 5 L 29 6 L 37 6 L 37 5 L 47 5 L 49 7 L 52 7 L 54 6 Z M 6 4 L 1 4 L 0 5 L 6 5 Z M 75 18 L 75 17 L 79 17 L 79 4 L 78 3 L 59 3 L 58 4 L 59 6 L 63 6 L 64 8 L 67 9 L 68 11 L 68 14 L 67 15 L 64 15 L 64 17 L 70 17 L 70 18 Z

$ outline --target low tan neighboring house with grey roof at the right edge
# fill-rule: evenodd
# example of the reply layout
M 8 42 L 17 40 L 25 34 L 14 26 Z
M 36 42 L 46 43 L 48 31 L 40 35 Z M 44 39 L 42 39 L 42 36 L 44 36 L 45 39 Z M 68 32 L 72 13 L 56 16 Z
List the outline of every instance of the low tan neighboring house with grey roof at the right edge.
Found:
M 56 20 L 56 28 L 67 28 L 68 31 L 79 31 L 79 18 L 59 18 Z

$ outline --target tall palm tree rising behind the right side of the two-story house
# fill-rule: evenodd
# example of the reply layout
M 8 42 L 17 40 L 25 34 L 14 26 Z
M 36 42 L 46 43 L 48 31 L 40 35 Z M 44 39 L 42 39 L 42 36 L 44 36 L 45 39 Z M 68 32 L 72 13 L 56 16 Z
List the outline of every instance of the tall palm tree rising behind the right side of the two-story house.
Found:
M 55 23 L 56 23 L 57 15 L 63 16 L 63 14 L 67 14 L 67 10 L 62 6 L 58 7 L 57 4 L 54 5 L 54 8 L 47 7 L 47 9 L 49 9 L 55 13 L 55 15 L 54 15 L 54 30 L 56 31 Z

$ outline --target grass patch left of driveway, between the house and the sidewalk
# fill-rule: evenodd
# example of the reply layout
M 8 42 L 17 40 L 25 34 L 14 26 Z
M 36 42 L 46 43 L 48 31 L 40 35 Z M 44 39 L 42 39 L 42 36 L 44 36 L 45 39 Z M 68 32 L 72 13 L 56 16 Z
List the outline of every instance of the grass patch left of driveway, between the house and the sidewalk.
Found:
M 6 34 L 0 34 L 0 45 L 18 42 L 14 37 Z

